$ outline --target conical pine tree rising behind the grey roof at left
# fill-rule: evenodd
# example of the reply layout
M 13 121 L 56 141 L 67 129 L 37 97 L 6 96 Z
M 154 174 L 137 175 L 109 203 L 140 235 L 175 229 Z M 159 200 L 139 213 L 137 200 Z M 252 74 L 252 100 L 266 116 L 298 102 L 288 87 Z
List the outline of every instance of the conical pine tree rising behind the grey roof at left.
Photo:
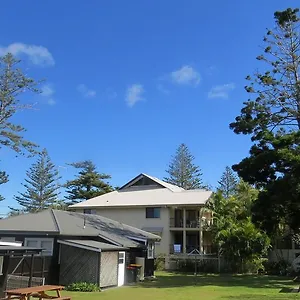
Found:
M 38 212 L 55 206 L 59 200 L 58 170 L 51 162 L 47 151 L 44 149 L 36 163 L 26 172 L 28 178 L 23 186 L 25 192 L 18 193 L 15 200 L 22 207 L 22 212 Z M 11 208 L 12 211 L 19 209 Z

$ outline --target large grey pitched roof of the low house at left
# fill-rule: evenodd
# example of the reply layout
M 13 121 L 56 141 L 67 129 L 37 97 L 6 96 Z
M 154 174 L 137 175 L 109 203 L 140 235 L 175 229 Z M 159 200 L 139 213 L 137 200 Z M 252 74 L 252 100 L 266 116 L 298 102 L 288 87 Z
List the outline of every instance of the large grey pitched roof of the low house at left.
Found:
M 129 237 L 160 239 L 154 234 L 102 216 L 52 209 L 1 219 L 0 234 L 10 232 L 102 237 L 128 248 L 139 246 Z

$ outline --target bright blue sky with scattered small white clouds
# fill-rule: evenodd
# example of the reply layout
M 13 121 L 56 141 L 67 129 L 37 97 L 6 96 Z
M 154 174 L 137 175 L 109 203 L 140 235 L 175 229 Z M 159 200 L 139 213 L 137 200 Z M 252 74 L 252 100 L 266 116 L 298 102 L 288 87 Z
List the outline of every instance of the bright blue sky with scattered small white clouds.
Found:
M 63 179 L 69 162 L 92 159 L 122 185 L 141 172 L 162 178 L 184 142 L 216 185 L 250 142 L 228 124 L 248 96 L 245 76 L 259 63 L 273 13 L 298 1 L 3 1 L 0 54 L 23 59 L 46 79 L 34 109 L 14 121 L 48 149 Z M 4 16 L 4 17 L 3 17 Z M 1 149 L 10 182 L 0 213 L 33 159 Z

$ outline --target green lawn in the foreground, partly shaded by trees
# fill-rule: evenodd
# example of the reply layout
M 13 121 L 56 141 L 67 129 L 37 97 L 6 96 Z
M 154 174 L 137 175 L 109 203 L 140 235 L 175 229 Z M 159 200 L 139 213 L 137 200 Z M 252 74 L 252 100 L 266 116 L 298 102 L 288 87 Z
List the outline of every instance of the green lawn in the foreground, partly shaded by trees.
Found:
M 218 276 L 158 273 L 155 282 L 113 288 L 101 293 L 72 293 L 73 300 L 198 300 L 198 299 L 300 299 L 291 293 L 296 288 L 291 279 L 274 276 Z

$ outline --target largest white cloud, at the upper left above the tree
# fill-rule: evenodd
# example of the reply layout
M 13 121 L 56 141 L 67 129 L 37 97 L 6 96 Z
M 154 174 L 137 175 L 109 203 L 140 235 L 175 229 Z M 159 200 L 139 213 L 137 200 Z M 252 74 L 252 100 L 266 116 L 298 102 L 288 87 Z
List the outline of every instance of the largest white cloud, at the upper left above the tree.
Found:
M 5 55 L 8 52 L 15 56 L 27 56 L 34 65 L 53 66 L 55 64 L 52 54 L 43 46 L 23 43 L 13 43 L 7 47 L 0 46 L 0 55 Z

